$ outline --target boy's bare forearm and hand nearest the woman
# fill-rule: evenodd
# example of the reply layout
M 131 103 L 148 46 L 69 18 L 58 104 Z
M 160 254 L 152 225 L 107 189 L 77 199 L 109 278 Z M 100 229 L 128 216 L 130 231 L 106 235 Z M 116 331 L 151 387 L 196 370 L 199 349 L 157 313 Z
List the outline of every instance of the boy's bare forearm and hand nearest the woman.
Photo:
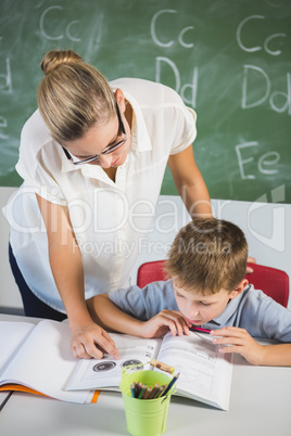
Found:
M 92 320 L 103 329 L 140 337 L 160 337 L 168 331 L 173 335 L 189 334 L 190 324 L 178 311 L 162 310 L 150 320 L 140 321 L 115 306 L 109 294 L 89 298 L 87 307 Z

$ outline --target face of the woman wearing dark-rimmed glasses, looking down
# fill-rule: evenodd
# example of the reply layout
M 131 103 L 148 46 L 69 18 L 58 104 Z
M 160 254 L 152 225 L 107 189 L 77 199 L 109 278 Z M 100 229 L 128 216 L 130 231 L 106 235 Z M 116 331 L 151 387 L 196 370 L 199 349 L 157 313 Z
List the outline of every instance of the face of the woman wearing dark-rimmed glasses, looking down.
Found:
M 65 144 L 73 162 L 88 159 L 98 155 L 98 158 L 90 162 L 90 165 L 99 165 L 106 169 L 124 164 L 130 148 L 130 127 L 124 116 L 124 111 L 122 111 L 121 106 L 118 107 L 121 121 L 116 111 L 116 114 L 109 121 L 91 127 L 83 138 Z M 126 137 L 123 133 L 122 125 Z M 114 149 L 114 145 L 119 141 L 121 146 L 111 152 L 109 149 Z M 104 154 L 104 151 L 109 151 L 109 153 Z

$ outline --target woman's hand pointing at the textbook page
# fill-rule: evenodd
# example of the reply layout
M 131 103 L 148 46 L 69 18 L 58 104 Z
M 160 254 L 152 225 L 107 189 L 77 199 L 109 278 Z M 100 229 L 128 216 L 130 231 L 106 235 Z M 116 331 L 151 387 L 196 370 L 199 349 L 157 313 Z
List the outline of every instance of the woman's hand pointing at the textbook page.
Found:
M 119 359 L 114 341 L 94 322 L 72 331 L 71 351 L 74 357 L 80 359 L 102 359 L 104 352 Z

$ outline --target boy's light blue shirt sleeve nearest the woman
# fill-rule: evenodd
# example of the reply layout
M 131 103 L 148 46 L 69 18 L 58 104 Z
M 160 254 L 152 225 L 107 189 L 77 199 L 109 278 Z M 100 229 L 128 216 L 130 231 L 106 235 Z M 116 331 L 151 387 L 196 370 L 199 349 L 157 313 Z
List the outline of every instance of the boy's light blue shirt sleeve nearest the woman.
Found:
M 163 309 L 179 310 L 175 300 L 172 280 L 154 282 L 140 288 L 136 285 L 112 291 L 109 298 L 122 311 L 140 321 L 147 321 Z

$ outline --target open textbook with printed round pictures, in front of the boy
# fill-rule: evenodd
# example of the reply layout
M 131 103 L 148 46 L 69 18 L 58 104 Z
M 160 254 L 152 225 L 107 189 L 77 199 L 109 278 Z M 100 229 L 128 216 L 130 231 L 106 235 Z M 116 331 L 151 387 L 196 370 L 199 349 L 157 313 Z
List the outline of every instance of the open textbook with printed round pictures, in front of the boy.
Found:
M 66 389 L 118 389 L 122 370 L 129 364 L 153 369 L 148 362 L 155 358 L 180 373 L 175 395 L 192 398 L 210 406 L 228 410 L 232 376 L 232 355 L 218 352 L 219 345 L 205 333 L 191 332 L 190 336 L 139 338 L 112 333 L 121 359 L 105 355 L 101 360 L 80 360 Z M 155 369 L 153 369 L 155 370 Z

